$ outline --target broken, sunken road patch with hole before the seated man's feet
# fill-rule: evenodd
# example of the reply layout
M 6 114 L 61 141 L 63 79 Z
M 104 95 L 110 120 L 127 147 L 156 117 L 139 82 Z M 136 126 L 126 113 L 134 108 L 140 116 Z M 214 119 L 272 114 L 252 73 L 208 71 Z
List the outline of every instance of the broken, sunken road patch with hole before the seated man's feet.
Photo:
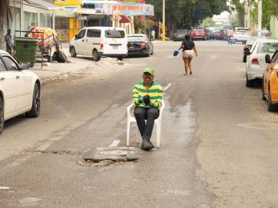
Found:
M 79 164 L 83 166 L 123 165 L 132 164 L 139 158 L 138 148 L 134 147 L 97 148 L 85 153 Z

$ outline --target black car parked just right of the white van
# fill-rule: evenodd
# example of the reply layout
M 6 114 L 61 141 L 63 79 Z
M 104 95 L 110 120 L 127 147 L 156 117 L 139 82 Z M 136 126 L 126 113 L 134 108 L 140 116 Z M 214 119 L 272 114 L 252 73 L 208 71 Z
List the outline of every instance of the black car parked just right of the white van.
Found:
M 153 55 L 154 45 L 149 40 L 147 35 L 144 34 L 133 34 L 127 35 L 127 49 L 128 55 Z

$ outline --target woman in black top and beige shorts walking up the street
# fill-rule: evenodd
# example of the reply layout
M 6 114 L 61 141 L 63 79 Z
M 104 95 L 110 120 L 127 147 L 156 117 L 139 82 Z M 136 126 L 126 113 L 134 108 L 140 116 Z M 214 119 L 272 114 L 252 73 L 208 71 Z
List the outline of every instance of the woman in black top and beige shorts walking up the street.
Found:
M 186 73 L 184 75 L 188 75 L 188 69 L 189 69 L 189 74 L 191 75 L 193 73 L 192 71 L 192 63 L 191 61 L 193 60 L 193 55 L 195 53 L 196 57 L 198 56 L 195 44 L 193 40 L 191 40 L 190 35 L 185 36 L 186 40 L 183 40 L 181 44 L 181 48 L 183 49 L 183 62 L 184 62 L 184 69 L 186 70 Z

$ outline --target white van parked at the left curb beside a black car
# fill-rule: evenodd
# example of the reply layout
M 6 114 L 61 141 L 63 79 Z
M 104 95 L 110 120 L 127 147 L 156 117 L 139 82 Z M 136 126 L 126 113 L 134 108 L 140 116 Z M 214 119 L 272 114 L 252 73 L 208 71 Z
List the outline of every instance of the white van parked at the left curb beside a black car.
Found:
M 72 57 L 92 55 L 95 61 L 98 61 L 101 56 L 122 60 L 127 56 L 126 32 L 123 28 L 82 28 L 70 42 L 69 50 Z

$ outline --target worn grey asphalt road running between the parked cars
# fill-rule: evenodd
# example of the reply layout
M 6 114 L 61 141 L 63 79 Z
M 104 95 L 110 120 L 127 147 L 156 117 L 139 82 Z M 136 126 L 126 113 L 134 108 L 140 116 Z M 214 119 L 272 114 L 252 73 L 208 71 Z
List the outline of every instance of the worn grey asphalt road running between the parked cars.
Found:
M 0 136 L 0 207 L 278 207 L 277 113 L 259 83 L 245 87 L 243 45 L 195 42 L 193 76 L 183 76 L 172 56 L 179 44 L 44 85 L 40 117 L 11 119 Z M 138 149 L 138 162 L 83 166 L 90 150 L 124 146 L 144 67 L 170 86 L 161 148 Z M 138 146 L 135 125 L 131 132 Z

